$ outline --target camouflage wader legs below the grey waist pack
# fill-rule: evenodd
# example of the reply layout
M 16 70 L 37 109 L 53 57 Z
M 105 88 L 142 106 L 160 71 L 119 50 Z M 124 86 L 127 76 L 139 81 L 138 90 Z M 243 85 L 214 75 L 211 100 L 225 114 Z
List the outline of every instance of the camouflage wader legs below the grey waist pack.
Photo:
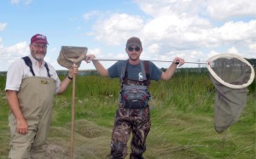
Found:
M 130 133 L 132 133 L 130 158 L 143 158 L 143 152 L 146 150 L 146 138 L 151 126 L 149 113 L 149 106 L 143 109 L 125 109 L 119 102 L 119 109 L 116 111 L 113 125 L 111 159 L 125 158 Z

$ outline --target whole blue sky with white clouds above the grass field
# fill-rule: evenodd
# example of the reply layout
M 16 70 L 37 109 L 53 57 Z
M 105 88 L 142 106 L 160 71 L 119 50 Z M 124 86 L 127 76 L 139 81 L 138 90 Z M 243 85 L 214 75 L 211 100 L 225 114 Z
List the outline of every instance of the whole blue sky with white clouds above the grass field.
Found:
M 126 58 L 129 37 L 143 42 L 142 59 L 207 61 L 215 54 L 256 58 L 252 0 L 2 0 L 0 71 L 30 54 L 32 35 L 48 38 L 45 60 L 56 70 L 61 46 L 87 47 L 98 58 Z M 103 62 L 108 68 L 113 62 Z M 155 63 L 167 67 L 169 63 Z M 193 66 L 185 64 L 183 67 Z M 195 66 L 195 64 L 194 64 Z M 94 69 L 92 64 L 80 70 Z

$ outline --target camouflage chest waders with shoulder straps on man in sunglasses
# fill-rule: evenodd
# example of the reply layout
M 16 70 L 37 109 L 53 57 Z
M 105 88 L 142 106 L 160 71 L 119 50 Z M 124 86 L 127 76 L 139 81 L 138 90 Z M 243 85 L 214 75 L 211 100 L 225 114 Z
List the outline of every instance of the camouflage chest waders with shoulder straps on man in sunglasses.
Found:
M 150 80 L 148 63 L 146 61 L 141 62 L 143 81 L 140 82 L 127 79 L 127 63 L 122 66 L 122 73 L 120 76 L 121 87 L 123 84 L 149 86 Z M 146 138 L 148 136 L 150 125 L 149 106 L 141 109 L 127 109 L 123 105 L 122 97 L 120 95 L 119 109 L 116 112 L 115 122 L 113 125 L 110 158 L 123 159 L 127 156 L 127 142 L 131 133 L 130 158 L 143 158 L 143 152 L 146 150 Z

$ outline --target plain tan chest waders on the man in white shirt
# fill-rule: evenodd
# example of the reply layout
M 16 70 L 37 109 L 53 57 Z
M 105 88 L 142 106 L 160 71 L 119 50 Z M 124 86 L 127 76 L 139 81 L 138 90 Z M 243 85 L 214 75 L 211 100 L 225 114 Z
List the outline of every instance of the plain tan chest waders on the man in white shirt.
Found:
M 11 150 L 9 158 L 45 157 L 51 112 L 55 97 L 55 81 L 49 77 L 26 77 L 17 94 L 20 110 L 26 119 L 28 133 L 17 133 L 15 116 L 9 113 Z

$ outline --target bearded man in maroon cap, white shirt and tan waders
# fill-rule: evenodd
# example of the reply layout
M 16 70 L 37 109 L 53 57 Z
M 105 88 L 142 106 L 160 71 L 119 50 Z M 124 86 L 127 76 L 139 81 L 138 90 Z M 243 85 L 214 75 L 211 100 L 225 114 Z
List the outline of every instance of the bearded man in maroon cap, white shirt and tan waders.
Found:
M 9 103 L 9 158 L 45 158 L 55 94 L 66 90 L 78 67 L 73 66 L 61 82 L 54 67 L 44 61 L 47 37 L 36 34 L 31 54 L 10 65 L 6 79 Z

